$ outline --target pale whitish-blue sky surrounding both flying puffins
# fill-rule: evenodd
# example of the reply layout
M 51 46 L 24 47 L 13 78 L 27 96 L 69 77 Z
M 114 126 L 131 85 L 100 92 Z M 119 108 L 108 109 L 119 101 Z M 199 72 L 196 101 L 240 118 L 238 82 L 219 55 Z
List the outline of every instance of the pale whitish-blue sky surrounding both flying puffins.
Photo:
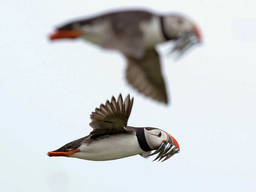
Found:
M 1 191 L 255 190 L 255 0 L 139 2 L 1 1 Z M 183 13 L 202 30 L 202 46 L 162 58 L 171 105 L 128 85 L 120 53 L 48 39 L 69 20 L 135 7 Z M 88 135 L 90 113 L 119 93 L 135 99 L 128 125 L 169 132 L 181 152 L 164 163 L 46 155 Z

